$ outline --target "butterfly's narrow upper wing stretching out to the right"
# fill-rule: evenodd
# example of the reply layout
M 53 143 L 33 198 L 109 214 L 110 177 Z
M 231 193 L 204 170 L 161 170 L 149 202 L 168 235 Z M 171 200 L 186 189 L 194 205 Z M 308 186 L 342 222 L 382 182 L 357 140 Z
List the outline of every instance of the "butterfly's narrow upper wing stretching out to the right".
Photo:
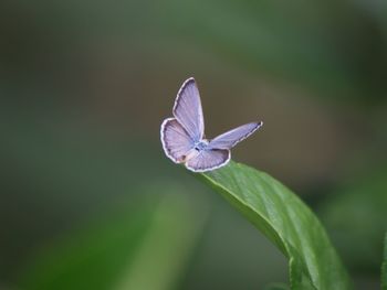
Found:
M 242 125 L 236 129 L 227 131 L 210 141 L 209 149 L 231 149 L 237 143 L 248 138 L 254 131 L 257 131 L 263 122 L 250 122 Z

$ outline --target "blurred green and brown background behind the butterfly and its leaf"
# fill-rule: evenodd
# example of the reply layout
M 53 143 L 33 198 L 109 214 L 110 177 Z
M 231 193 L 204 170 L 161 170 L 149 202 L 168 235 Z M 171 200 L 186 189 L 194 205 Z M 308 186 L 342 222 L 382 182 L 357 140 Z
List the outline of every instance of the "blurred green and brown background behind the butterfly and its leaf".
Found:
M 357 289 L 387 221 L 387 4 L 0 2 L 0 289 L 263 289 L 286 260 L 161 151 L 195 76 L 207 136 L 310 204 Z M 326 267 L 330 267 L 328 265 Z

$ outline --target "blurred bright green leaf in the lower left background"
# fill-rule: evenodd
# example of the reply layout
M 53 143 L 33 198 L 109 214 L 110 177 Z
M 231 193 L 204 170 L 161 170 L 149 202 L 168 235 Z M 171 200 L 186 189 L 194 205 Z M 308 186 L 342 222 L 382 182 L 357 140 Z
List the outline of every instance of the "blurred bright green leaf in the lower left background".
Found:
M 195 201 L 179 193 L 125 206 L 61 239 L 29 265 L 21 288 L 172 289 L 205 221 L 195 215 Z

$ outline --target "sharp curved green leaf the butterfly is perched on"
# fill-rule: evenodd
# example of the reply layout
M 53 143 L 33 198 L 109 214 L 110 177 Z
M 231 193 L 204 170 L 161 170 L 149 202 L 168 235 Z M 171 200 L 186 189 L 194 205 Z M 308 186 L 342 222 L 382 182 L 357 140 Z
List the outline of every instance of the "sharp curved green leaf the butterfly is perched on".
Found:
M 287 257 L 292 289 L 352 288 L 317 217 L 279 181 L 232 161 L 199 176 Z

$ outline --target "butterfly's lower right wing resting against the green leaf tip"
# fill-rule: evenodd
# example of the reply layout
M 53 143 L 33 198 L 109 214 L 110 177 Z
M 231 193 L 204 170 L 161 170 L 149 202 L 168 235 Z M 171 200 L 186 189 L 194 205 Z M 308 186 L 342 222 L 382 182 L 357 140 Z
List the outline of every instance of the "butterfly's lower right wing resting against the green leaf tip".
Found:
M 230 150 L 202 150 L 187 160 L 186 168 L 194 172 L 206 172 L 226 165 L 230 158 Z

